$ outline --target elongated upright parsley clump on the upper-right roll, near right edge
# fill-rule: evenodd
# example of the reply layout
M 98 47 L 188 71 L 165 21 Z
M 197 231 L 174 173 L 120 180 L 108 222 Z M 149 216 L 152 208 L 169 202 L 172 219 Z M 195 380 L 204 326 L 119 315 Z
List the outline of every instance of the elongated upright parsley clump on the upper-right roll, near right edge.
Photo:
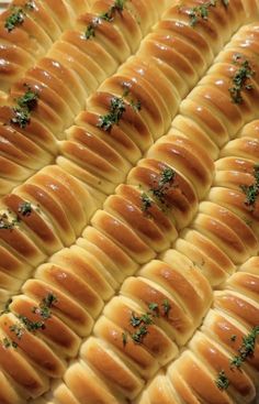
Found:
M 252 85 L 248 81 L 254 75 L 255 70 L 252 70 L 249 62 L 247 59 L 243 59 L 240 54 L 235 54 L 233 56 L 233 63 L 238 65 L 238 69 L 236 70 L 233 77 L 233 86 L 228 89 L 232 100 L 235 103 L 243 102 L 243 90 L 251 90 Z

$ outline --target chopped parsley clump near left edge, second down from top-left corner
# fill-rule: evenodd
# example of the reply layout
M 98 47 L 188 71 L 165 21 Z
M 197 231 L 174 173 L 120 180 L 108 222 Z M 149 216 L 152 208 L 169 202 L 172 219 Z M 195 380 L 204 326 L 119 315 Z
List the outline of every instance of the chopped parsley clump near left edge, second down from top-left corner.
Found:
M 24 129 L 31 121 L 31 111 L 37 106 L 38 94 L 33 91 L 30 86 L 24 84 L 25 94 L 16 99 L 18 107 L 13 108 L 14 117 L 11 123 Z

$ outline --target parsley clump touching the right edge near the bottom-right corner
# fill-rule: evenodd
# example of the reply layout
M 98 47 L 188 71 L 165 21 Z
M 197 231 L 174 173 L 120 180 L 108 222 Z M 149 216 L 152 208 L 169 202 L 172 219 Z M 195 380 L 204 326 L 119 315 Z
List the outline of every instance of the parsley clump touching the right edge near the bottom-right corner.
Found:
M 238 349 L 239 353 L 230 360 L 232 368 L 239 369 L 247 358 L 254 356 L 256 340 L 258 336 L 259 336 L 259 326 L 256 326 L 246 337 L 243 338 L 243 343 Z

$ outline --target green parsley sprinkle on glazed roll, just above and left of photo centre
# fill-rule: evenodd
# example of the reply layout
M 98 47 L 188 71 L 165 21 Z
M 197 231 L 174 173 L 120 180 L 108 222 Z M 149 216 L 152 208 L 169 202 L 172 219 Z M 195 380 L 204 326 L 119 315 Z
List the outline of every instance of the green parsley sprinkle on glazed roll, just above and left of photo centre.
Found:
M 97 124 L 99 128 L 102 128 L 104 131 L 110 131 L 114 124 L 119 124 L 120 120 L 123 117 L 123 113 L 126 110 L 125 98 L 128 96 L 128 94 L 130 90 L 128 88 L 126 88 L 122 97 L 113 97 L 111 99 L 110 112 L 99 118 L 99 122 Z M 131 100 L 130 105 L 134 109 L 134 111 L 139 111 L 139 101 L 135 102 Z

